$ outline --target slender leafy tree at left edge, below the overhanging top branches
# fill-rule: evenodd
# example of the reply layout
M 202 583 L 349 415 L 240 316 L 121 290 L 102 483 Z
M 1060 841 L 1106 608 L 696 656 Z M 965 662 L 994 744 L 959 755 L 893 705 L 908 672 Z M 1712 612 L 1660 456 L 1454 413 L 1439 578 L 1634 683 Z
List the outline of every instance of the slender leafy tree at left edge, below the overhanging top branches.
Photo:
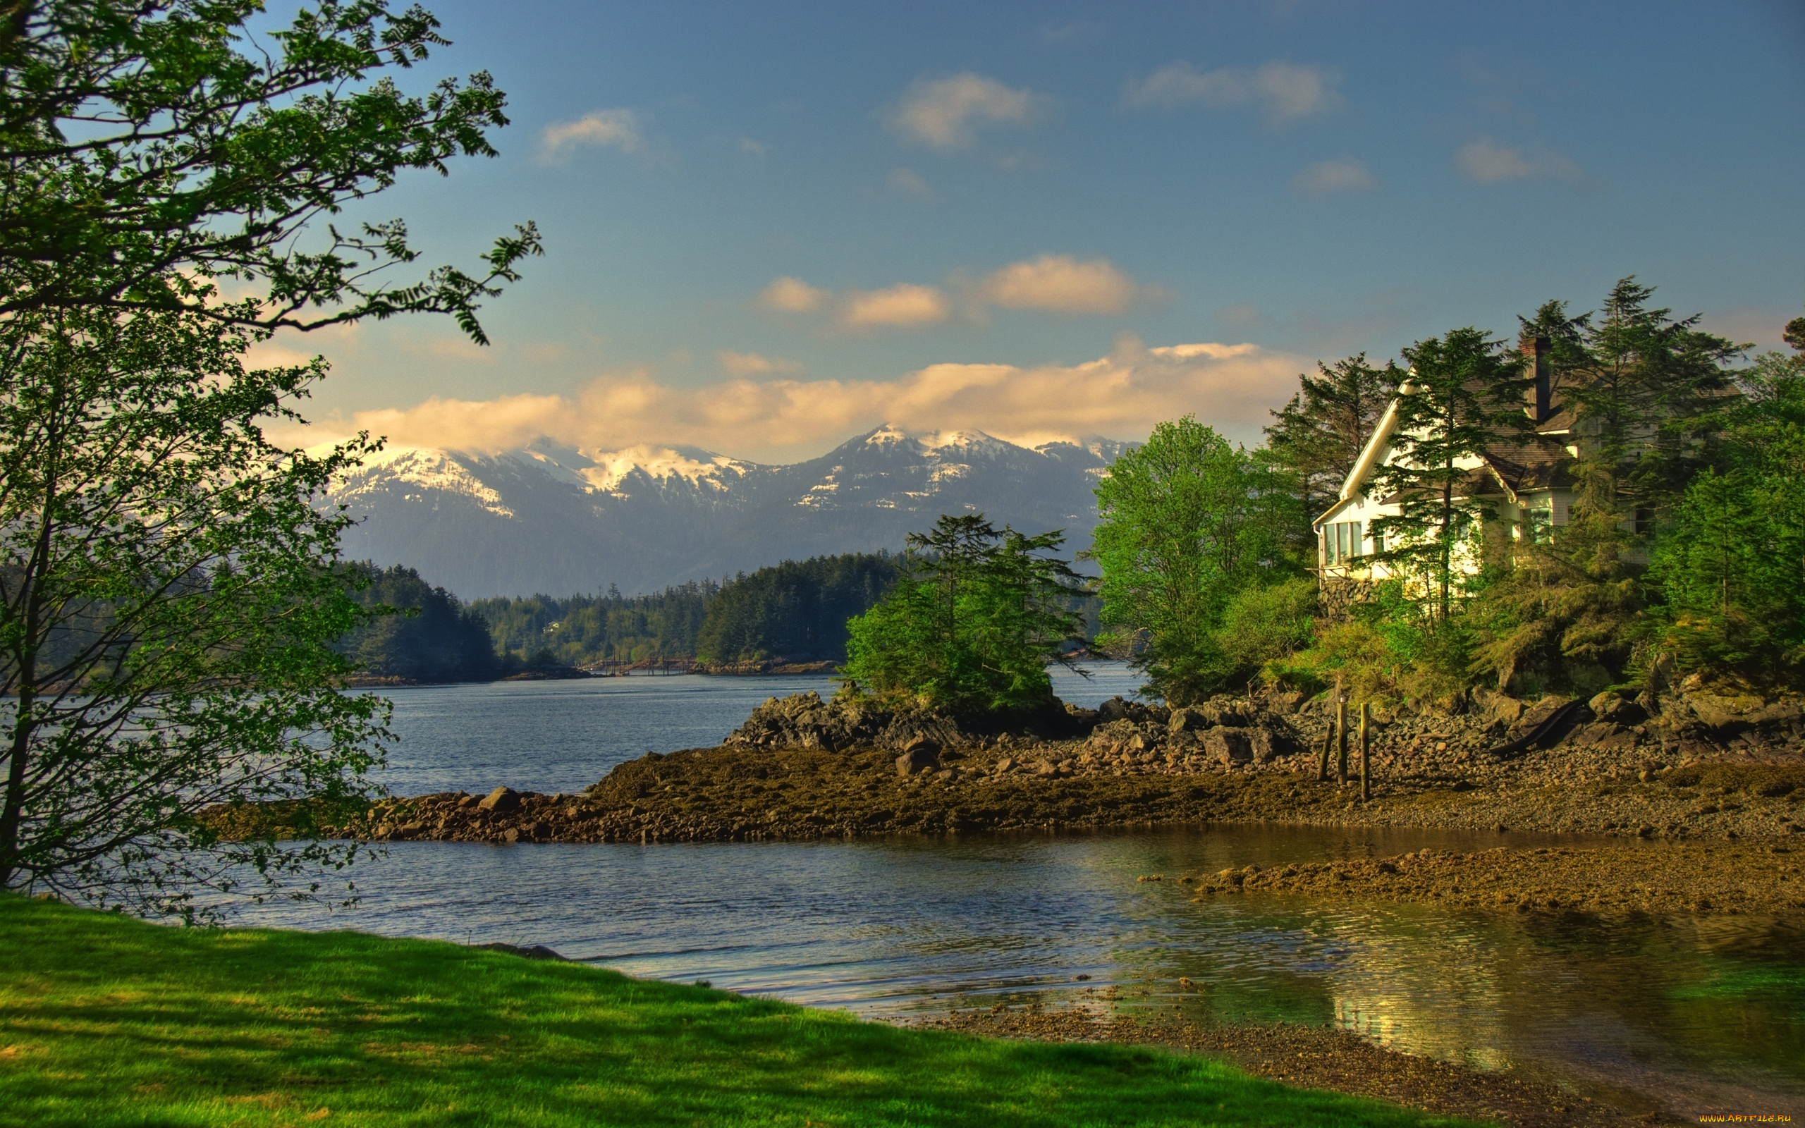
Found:
M 247 372 L 190 312 L 0 332 L 0 886 L 139 911 L 280 884 L 352 848 L 220 845 L 222 801 L 363 794 L 386 702 L 334 689 L 361 612 L 312 498 L 365 439 L 264 440 L 321 366 Z M 258 877 L 260 875 L 260 877 Z

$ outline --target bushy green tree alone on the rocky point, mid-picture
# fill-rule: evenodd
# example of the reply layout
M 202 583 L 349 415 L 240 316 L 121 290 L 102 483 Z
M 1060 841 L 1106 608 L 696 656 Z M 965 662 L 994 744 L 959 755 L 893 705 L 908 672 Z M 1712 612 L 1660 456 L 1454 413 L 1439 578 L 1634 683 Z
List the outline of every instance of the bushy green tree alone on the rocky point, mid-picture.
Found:
M 1063 541 L 998 531 L 982 514 L 942 516 L 910 534 L 910 574 L 847 624 L 841 677 L 953 711 L 1047 704 L 1047 662 L 1083 641 L 1081 617 L 1065 606 L 1083 588 L 1052 556 Z

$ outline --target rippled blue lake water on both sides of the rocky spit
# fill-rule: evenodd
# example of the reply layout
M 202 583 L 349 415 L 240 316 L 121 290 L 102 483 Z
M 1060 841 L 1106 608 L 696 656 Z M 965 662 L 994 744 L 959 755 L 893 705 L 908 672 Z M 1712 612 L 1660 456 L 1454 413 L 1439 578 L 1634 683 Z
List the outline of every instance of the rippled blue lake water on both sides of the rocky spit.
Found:
M 830 686 L 637 677 L 397 689 L 390 783 L 401 794 L 500 781 L 576 791 L 648 749 L 715 744 L 773 693 Z M 1121 668 L 1060 686 L 1085 704 L 1132 689 Z M 1193 904 L 1173 881 L 1231 864 L 1498 841 L 1199 827 L 830 843 L 397 843 L 368 868 L 359 863 L 354 910 L 265 906 L 245 917 L 549 944 L 630 975 L 883 1018 L 1040 998 L 1336 1023 L 1635 1110 L 1805 1114 L 1798 920 L 1601 922 L 1276 897 Z M 1137 883 L 1144 874 L 1166 881 Z M 1199 991 L 1179 993 L 1179 976 Z M 1115 1002 L 1103 1002 L 1112 989 Z

